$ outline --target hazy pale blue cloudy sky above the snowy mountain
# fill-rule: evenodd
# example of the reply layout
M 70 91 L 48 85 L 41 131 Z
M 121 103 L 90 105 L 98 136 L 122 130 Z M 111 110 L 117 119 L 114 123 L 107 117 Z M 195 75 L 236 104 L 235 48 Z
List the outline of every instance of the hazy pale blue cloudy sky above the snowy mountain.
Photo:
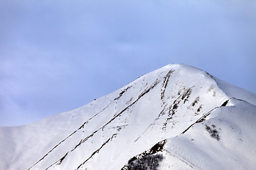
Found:
M 256 93 L 255 0 L 0 0 L 0 125 L 70 111 L 169 63 Z

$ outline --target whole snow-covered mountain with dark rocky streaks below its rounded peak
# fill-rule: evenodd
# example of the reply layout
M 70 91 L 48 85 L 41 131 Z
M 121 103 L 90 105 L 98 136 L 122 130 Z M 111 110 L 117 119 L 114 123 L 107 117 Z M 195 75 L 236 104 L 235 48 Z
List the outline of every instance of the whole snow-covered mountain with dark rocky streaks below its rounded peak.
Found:
M 74 111 L 0 128 L 0 169 L 255 169 L 255 104 L 169 64 Z

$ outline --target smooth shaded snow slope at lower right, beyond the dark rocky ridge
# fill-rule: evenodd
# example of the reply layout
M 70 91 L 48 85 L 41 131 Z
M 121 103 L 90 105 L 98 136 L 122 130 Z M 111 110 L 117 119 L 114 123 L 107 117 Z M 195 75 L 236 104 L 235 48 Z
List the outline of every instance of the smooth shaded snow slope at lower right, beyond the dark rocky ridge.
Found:
M 159 169 L 255 169 L 256 107 L 231 101 L 235 106 L 220 107 L 208 120 L 168 139 Z M 169 157 L 176 160 L 170 162 Z

